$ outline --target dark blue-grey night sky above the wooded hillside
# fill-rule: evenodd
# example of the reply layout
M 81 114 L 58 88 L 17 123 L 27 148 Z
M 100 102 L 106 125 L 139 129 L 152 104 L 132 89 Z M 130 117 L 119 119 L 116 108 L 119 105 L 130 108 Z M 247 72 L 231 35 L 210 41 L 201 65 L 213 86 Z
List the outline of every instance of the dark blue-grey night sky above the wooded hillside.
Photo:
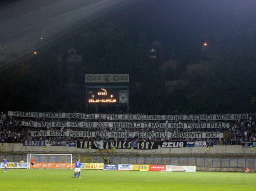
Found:
M 256 29 L 254 0 L 3 1 L 0 10 L 2 41 L 44 36 L 47 44 L 101 20 L 145 32 L 176 53 L 193 53 L 205 41 L 221 37 L 228 42 Z

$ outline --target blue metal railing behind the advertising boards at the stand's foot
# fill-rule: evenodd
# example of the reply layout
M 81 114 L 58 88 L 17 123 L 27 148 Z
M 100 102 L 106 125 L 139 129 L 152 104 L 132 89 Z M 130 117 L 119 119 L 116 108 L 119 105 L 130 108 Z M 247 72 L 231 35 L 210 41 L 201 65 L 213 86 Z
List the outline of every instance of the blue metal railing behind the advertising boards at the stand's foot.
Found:
M 21 159 L 27 160 L 26 155 L 0 155 L 5 157 L 8 162 L 20 162 Z M 72 161 L 76 161 L 79 155 L 73 156 Z M 81 162 L 101 163 L 102 157 L 80 156 Z M 157 165 L 190 165 L 196 167 L 214 168 L 255 168 L 255 159 L 244 158 L 148 158 L 148 157 L 109 157 L 111 164 L 157 164 Z M 35 161 L 36 162 L 36 161 Z

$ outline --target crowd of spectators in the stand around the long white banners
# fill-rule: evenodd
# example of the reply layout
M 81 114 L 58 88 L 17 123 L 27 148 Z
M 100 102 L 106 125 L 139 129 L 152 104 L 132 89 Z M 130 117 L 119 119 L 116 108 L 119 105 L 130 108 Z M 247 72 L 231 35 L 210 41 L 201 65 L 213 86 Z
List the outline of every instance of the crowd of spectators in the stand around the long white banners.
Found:
M 241 141 L 255 141 L 255 122 L 256 112 L 249 114 L 249 119 L 226 121 L 230 123 L 228 130 L 224 129 L 170 129 L 170 128 L 36 128 L 26 127 L 22 125 L 22 121 L 69 121 L 69 122 L 133 122 L 133 123 L 187 123 L 187 122 L 223 122 L 223 121 L 164 121 L 164 120 L 92 120 L 92 119 L 63 119 L 63 118 L 21 118 L 21 117 L 9 117 L 7 112 L 1 112 L 0 116 L 0 142 L 6 143 L 23 143 L 24 140 L 90 140 L 86 137 L 32 137 L 31 131 L 44 131 L 44 130 L 59 130 L 59 131 L 92 131 L 92 132 L 224 132 L 223 139 L 212 139 L 215 145 L 219 144 L 219 141 L 223 141 L 224 144 L 241 144 Z M 227 134 L 227 138 L 225 137 Z M 97 137 L 97 140 L 102 138 Z M 194 141 L 194 140 L 206 140 L 206 139 L 188 139 L 188 138 L 103 138 L 104 141 Z

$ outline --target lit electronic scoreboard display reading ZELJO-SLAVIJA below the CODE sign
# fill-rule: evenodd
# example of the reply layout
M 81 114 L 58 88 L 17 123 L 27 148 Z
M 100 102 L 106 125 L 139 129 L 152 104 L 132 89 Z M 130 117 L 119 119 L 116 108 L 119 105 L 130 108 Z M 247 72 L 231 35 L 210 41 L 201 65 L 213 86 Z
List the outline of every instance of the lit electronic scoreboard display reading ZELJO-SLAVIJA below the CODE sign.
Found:
M 128 88 L 125 87 L 86 87 L 87 104 L 129 103 Z

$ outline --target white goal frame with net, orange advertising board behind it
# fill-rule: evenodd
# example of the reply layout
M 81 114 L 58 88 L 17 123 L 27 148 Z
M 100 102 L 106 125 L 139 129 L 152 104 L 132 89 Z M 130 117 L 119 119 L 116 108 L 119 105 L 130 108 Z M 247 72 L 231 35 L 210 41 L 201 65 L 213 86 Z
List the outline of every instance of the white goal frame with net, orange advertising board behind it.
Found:
M 34 154 L 27 155 L 28 169 L 32 168 L 30 164 L 31 158 L 34 158 L 34 166 L 36 169 L 73 169 L 72 154 Z

